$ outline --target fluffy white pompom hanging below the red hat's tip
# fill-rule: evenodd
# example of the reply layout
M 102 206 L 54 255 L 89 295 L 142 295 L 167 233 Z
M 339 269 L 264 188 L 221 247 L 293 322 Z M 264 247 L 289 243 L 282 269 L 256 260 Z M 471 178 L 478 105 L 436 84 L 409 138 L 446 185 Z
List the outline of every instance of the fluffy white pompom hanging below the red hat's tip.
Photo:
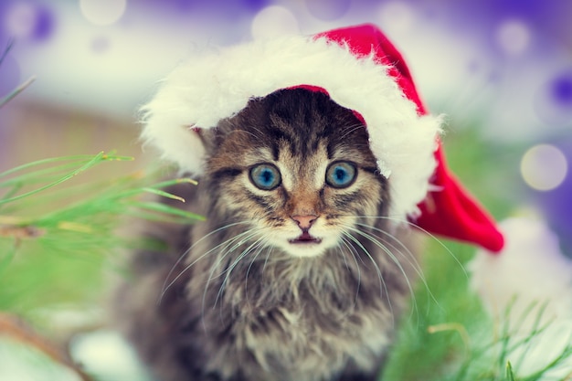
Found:
M 544 369 L 569 347 L 572 337 L 572 261 L 561 252 L 545 221 L 511 218 L 500 224 L 506 245 L 500 256 L 481 249 L 469 264 L 471 288 L 495 322 L 508 326 L 521 359 L 519 375 Z M 564 379 L 572 369 L 568 357 L 539 376 Z

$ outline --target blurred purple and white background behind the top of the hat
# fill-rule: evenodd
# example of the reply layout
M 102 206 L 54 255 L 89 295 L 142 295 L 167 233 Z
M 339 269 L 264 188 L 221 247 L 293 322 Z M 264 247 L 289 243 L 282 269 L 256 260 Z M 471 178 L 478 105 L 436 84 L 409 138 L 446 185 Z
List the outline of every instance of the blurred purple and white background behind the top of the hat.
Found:
M 0 48 L 16 43 L 0 97 L 35 75 L 18 102 L 131 121 L 154 83 L 196 50 L 373 22 L 408 59 L 432 111 L 527 147 L 523 192 L 569 236 L 571 19 L 565 0 L 3 0 Z

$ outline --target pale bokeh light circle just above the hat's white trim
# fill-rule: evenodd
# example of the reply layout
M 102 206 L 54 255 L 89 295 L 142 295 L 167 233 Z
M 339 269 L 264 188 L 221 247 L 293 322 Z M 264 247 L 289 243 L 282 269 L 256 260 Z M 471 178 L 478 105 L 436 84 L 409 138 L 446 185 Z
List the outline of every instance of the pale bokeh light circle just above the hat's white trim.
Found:
M 278 37 L 285 34 L 297 34 L 300 32 L 298 20 L 291 11 L 283 6 L 270 5 L 260 10 L 254 16 L 250 26 L 253 38 Z

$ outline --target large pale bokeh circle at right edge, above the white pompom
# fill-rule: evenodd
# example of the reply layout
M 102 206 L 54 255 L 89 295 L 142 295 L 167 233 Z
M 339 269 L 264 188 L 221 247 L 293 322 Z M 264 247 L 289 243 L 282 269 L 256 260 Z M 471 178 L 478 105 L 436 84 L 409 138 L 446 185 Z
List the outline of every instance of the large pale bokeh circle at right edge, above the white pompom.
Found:
M 538 191 L 549 191 L 561 185 L 567 177 L 567 158 L 551 144 L 538 144 L 524 153 L 521 160 L 524 182 Z

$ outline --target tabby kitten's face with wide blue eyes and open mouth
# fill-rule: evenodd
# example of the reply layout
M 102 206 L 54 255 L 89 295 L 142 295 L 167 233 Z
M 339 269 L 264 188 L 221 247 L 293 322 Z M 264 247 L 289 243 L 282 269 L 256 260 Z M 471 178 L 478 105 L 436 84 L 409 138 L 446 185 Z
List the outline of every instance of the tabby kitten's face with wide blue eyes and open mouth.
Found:
M 365 126 L 325 94 L 277 91 L 216 133 L 206 175 L 213 207 L 246 222 L 245 238 L 260 247 L 318 256 L 387 209 Z

